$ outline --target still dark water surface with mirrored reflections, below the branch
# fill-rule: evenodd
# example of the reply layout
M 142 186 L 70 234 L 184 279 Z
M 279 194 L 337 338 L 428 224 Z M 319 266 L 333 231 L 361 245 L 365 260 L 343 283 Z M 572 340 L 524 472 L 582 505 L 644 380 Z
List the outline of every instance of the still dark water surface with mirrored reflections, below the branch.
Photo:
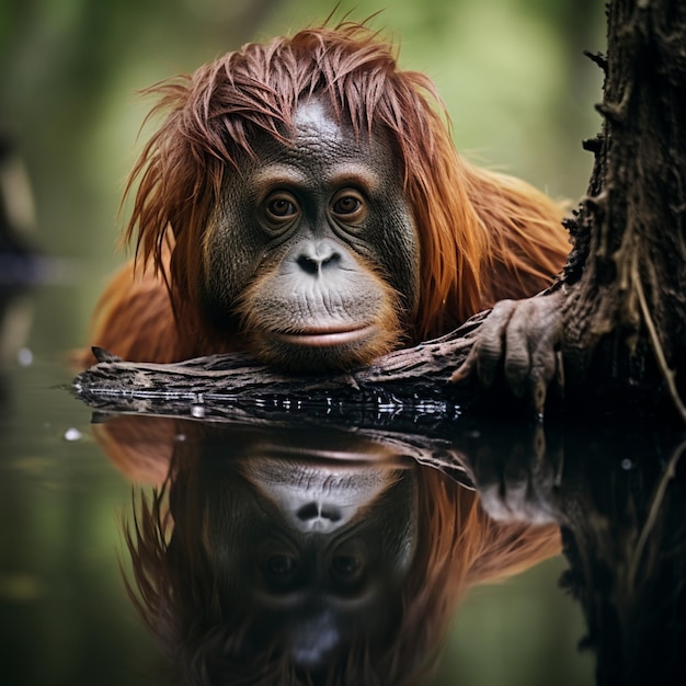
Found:
M 44 323 L 69 293 L 4 300 L 33 323 L 0 377 L 2 684 L 584 685 L 596 655 L 603 684 L 682 683 L 679 432 L 92 424 Z

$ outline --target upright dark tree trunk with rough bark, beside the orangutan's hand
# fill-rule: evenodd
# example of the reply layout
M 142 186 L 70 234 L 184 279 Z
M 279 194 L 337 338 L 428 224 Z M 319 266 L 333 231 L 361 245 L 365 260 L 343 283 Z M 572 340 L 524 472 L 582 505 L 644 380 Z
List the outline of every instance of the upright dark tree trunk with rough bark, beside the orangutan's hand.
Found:
M 686 7 L 615 0 L 605 117 L 561 287 L 568 402 L 678 399 L 686 344 Z

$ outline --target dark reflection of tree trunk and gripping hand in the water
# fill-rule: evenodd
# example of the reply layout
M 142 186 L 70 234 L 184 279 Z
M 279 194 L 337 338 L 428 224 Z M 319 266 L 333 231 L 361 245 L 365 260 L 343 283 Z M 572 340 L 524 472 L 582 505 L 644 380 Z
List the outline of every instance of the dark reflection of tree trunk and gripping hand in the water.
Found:
M 460 439 L 500 522 L 558 522 L 599 686 L 686 684 L 686 433 L 517 428 Z

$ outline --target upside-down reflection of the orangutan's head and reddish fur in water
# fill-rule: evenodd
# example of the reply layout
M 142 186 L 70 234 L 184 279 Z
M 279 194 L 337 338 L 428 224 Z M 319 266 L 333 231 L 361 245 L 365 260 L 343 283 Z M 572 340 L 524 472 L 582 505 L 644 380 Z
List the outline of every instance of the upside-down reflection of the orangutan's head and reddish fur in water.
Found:
M 145 416 L 96 435 L 160 487 L 126 533 L 130 595 L 190 684 L 426 683 L 466 588 L 559 550 L 398 435 Z

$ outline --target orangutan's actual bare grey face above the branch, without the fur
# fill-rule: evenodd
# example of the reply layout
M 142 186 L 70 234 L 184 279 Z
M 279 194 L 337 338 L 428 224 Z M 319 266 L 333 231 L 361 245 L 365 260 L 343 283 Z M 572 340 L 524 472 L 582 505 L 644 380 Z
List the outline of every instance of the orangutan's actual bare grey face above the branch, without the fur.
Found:
M 345 369 L 398 345 L 419 296 L 419 243 L 385 132 L 355 138 L 319 101 L 288 144 L 253 144 L 205 236 L 206 310 L 291 370 Z

